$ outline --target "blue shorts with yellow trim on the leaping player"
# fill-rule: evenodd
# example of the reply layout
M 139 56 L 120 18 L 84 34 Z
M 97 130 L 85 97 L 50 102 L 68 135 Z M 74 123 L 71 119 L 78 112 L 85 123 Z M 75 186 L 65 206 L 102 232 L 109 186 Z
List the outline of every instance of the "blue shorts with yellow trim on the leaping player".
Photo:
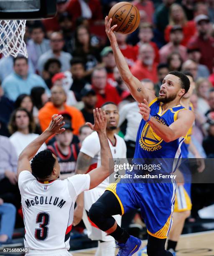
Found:
M 123 179 L 122 182 L 111 183 L 107 190 L 117 197 L 122 214 L 140 208 L 148 233 L 157 238 L 167 238 L 172 225 L 175 182 L 133 183 Z

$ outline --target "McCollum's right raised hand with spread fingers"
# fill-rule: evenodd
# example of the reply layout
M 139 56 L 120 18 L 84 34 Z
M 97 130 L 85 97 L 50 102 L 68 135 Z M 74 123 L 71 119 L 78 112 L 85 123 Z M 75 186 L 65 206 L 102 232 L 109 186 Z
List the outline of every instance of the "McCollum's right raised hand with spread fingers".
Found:
M 94 114 L 94 125 L 92 123 L 86 123 L 93 131 L 99 132 L 106 132 L 106 125 L 107 125 L 107 120 L 106 120 L 106 114 L 105 111 L 102 111 L 101 108 L 96 108 L 93 110 Z

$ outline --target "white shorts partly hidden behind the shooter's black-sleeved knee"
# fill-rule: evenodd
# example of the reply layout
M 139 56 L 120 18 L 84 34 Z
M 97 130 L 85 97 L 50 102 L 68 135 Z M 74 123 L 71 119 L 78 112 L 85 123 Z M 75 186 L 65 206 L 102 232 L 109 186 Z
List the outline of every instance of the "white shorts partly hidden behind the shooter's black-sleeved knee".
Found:
M 88 237 L 92 240 L 100 240 L 100 241 L 114 241 L 115 239 L 112 236 L 109 236 L 104 231 L 100 230 L 94 223 L 92 223 L 91 220 L 89 220 L 89 217 L 87 215 L 87 212 L 89 212 L 89 209 L 91 208 L 92 204 L 96 202 L 99 197 L 105 192 L 105 189 L 95 187 L 94 189 L 90 189 L 87 191 L 84 191 L 84 208 L 83 211 L 83 222 L 87 228 Z M 117 221 L 118 225 L 121 225 L 121 215 L 114 215 L 112 216 Z

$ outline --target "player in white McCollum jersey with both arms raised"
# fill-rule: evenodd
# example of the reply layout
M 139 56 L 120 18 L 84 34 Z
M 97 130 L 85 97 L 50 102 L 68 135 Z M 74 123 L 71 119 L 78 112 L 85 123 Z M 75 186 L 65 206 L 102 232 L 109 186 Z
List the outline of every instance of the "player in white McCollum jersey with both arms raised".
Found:
M 98 108 L 93 113 L 94 125 L 87 124 L 97 131 L 101 165 L 89 174 L 59 180 L 60 166 L 56 156 L 50 150 L 36 154 L 50 136 L 65 131 L 61 115 L 53 115 L 48 128 L 19 156 L 18 186 L 26 231 L 24 243 L 29 248 L 29 256 L 71 255 L 68 250 L 76 197 L 97 187 L 113 172 L 114 162 L 106 135 L 106 114 Z

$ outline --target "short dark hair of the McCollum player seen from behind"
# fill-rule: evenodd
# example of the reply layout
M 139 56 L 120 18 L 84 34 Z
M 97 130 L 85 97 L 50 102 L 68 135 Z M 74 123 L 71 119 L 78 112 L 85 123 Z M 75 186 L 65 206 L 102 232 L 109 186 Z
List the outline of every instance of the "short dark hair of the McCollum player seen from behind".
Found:
M 51 175 L 56 159 L 49 149 L 40 151 L 31 161 L 32 174 L 38 179 L 44 179 Z

